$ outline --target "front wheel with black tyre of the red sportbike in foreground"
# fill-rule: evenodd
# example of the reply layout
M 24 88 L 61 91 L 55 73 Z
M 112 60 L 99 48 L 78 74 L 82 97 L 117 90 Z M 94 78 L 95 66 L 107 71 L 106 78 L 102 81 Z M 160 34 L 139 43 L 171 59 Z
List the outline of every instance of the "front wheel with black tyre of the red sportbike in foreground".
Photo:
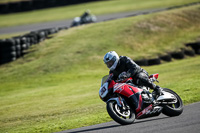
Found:
M 107 102 L 107 112 L 114 121 L 121 125 L 132 124 L 135 121 L 133 110 L 129 106 L 119 107 L 116 101 Z

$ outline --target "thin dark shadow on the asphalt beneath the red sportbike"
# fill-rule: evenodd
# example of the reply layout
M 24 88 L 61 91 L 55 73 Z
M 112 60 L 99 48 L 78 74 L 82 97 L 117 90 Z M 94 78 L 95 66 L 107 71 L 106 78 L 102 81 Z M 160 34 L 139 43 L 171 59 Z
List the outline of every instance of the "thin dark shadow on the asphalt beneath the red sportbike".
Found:
M 165 116 L 165 117 L 162 117 L 162 118 L 153 118 L 153 119 L 149 119 L 149 120 L 146 120 L 146 119 L 138 120 L 138 121 L 134 122 L 133 124 L 139 124 L 139 123 L 149 122 L 149 121 L 157 121 L 157 120 L 162 120 L 162 119 L 166 119 L 166 118 L 170 118 L 170 117 Z M 114 125 L 104 126 L 104 127 L 96 127 L 96 128 L 91 128 L 91 129 L 82 129 L 82 130 L 76 130 L 76 131 L 71 131 L 71 132 L 66 131 L 66 133 L 81 133 L 81 132 L 89 132 L 89 131 L 98 131 L 98 130 L 102 130 L 102 129 L 109 129 L 109 128 L 120 127 L 120 126 L 127 126 L 127 125 L 119 125 L 119 124 L 116 123 Z

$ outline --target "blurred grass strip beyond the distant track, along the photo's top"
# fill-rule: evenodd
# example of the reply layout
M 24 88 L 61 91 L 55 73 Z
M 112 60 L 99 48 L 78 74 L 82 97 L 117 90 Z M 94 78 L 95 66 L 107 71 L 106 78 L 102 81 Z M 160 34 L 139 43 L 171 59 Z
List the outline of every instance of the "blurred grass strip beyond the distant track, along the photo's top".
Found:
M 193 2 L 200 2 L 200 0 L 108 0 L 91 2 L 80 5 L 0 15 L 0 27 L 71 19 L 80 16 L 86 9 L 90 9 L 95 15 L 100 15 L 150 8 L 170 7 Z M 38 14 L 40 15 L 38 16 Z

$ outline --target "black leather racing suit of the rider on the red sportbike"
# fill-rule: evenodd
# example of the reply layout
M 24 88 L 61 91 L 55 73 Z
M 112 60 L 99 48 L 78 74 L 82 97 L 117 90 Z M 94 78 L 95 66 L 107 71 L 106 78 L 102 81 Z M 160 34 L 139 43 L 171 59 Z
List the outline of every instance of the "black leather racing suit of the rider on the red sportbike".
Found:
M 117 80 L 122 72 L 127 72 L 133 78 L 133 83 L 139 86 L 150 87 L 155 89 L 156 85 L 149 80 L 148 73 L 138 66 L 132 59 L 127 56 L 120 56 L 119 62 L 113 73 L 113 79 Z

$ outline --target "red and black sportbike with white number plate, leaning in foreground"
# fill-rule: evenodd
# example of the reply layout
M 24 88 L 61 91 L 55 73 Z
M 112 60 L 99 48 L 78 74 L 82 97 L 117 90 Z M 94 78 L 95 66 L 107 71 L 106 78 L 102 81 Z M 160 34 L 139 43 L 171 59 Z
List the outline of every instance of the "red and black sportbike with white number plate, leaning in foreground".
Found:
M 149 88 L 132 84 L 132 78 L 112 80 L 112 74 L 102 78 L 100 98 L 107 104 L 107 112 L 116 122 L 126 125 L 135 119 L 158 116 L 178 116 L 183 112 L 181 98 L 174 91 L 163 88 L 162 94 L 149 92 Z M 157 81 L 158 74 L 149 76 Z

